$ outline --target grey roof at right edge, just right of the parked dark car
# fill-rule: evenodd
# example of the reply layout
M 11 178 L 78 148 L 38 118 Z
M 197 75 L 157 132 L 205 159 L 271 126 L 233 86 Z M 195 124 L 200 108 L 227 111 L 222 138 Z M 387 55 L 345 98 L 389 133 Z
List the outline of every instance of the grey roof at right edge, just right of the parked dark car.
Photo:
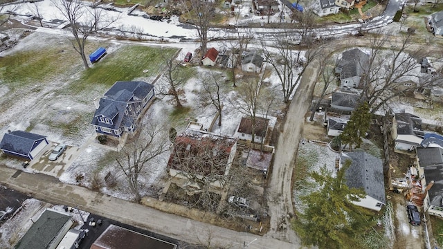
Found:
M 443 208 L 443 167 L 424 167 L 424 175 L 427 183 L 434 181 L 433 186 L 428 190 L 431 205 Z

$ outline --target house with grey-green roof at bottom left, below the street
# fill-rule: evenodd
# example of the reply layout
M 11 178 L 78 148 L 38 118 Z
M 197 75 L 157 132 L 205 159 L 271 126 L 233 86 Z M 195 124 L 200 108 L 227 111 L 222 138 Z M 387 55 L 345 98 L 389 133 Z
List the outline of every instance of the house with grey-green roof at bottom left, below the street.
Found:
M 46 209 L 37 221 L 33 221 L 15 248 L 55 249 L 72 225 L 71 216 Z

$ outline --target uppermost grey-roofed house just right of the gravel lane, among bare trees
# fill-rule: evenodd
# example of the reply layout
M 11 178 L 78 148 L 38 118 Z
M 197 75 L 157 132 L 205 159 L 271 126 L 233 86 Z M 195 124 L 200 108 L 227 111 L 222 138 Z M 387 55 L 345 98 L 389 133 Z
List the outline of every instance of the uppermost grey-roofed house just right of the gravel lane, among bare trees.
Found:
M 335 68 L 335 73 L 340 78 L 340 86 L 359 88 L 361 77 L 367 71 L 368 63 L 369 55 L 359 48 L 343 52 L 341 59 L 337 59 Z

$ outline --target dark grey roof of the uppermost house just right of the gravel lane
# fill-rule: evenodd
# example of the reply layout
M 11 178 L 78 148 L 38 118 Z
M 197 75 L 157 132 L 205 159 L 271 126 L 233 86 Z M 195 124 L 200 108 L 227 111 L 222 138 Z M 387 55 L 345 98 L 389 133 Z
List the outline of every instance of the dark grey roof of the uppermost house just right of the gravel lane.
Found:
M 341 79 L 361 76 L 363 70 L 368 66 L 369 55 L 363 53 L 359 48 L 343 52 L 341 59 L 337 59 L 336 67 L 341 68 Z

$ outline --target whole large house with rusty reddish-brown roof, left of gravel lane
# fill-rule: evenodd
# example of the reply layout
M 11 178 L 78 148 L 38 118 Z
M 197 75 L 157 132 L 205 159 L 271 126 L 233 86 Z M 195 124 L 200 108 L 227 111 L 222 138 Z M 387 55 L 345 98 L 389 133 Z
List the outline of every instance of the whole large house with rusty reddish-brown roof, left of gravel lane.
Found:
M 183 179 L 196 190 L 201 186 L 192 178 L 210 177 L 211 186 L 223 187 L 236 150 L 237 138 L 188 127 L 175 138 L 168 161 L 170 176 Z

